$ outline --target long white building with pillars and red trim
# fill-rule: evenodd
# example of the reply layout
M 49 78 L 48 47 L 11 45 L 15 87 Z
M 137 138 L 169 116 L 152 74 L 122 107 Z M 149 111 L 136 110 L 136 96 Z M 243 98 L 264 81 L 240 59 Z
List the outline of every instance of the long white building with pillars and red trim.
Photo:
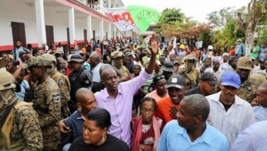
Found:
M 96 5 L 97 4 L 97 5 Z M 119 32 L 105 14 L 103 7 L 123 7 L 120 0 L 1 0 L 0 51 L 11 50 L 16 40 L 23 47 L 62 43 L 71 45 L 131 36 Z

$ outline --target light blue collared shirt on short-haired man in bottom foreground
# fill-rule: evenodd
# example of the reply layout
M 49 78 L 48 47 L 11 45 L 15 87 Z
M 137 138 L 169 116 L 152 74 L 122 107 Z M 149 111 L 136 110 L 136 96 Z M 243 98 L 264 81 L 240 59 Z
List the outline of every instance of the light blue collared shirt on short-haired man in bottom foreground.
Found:
M 227 151 L 229 144 L 223 133 L 206 123 L 206 129 L 194 142 L 190 140 L 186 128 L 179 126 L 176 119 L 168 122 L 162 131 L 157 151 L 209 150 Z

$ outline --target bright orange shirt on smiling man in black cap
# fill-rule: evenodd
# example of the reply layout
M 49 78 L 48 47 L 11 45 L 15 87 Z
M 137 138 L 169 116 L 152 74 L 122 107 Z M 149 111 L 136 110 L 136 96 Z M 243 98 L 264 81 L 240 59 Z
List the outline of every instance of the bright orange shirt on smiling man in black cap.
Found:
M 170 99 L 170 96 L 157 101 L 157 111 L 155 112 L 155 116 L 161 118 L 164 121 L 164 124 L 173 120 L 173 117 L 170 116 L 170 106 L 173 105 L 176 108 L 179 106 L 179 104 L 173 103 L 173 101 Z

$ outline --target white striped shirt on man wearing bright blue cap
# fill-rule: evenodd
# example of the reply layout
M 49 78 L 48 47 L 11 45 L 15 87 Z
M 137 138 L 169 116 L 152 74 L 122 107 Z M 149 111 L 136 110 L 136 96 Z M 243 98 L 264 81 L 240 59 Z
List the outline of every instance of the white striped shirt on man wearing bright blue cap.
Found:
M 235 102 L 228 111 L 225 111 L 225 107 L 219 100 L 220 94 L 221 92 L 218 92 L 206 97 L 210 106 L 207 121 L 223 132 L 231 146 L 242 130 L 255 123 L 255 117 L 251 105 L 238 95 L 235 96 Z

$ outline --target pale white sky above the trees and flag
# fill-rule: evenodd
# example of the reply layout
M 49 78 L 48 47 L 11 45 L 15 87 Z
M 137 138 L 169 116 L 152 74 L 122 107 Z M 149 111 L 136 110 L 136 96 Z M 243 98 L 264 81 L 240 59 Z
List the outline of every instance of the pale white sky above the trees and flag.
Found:
M 250 0 L 121 0 L 127 5 L 144 5 L 156 8 L 162 12 L 165 8 L 180 8 L 186 16 L 192 16 L 193 21 L 207 23 L 207 14 L 222 8 L 241 8 Z

